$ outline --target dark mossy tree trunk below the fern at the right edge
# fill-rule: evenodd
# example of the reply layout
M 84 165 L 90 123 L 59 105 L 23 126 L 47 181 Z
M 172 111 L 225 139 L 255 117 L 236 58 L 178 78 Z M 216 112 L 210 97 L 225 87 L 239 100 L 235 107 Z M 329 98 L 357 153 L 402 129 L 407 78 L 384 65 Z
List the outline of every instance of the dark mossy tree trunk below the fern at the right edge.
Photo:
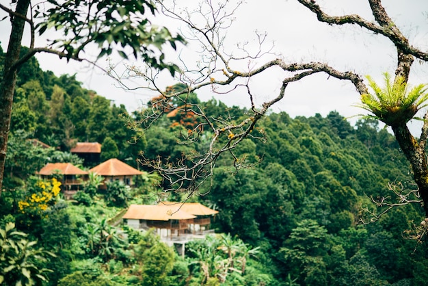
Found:
M 394 131 L 395 138 L 405 157 L 412 165 L 414 181 L 418 185 L 420 197 L 423 199 L 425 217 L 428 218 L 428 170 L 425 150 L 420 148 L 418 141 L 410 133 L 405 123 L 392 126 L 392 131 Z

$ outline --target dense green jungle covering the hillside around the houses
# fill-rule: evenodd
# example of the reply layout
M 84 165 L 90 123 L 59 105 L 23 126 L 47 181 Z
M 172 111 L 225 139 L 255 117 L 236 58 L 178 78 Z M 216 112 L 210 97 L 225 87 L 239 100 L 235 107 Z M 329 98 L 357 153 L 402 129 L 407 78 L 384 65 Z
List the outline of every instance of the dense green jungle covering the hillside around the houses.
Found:
M 213 117 L 246 112 L 215 99 L 200 105 Z M 414 188 L 397 142 L 375 120 L 351 126 L 336 111 L 266 116 L 254 130 L 266 140 L 248 138 L 237 151 L 253 165 L 235 172 L 232 159 L 220 158 L 213 185 L 190 198 L 219 211 L 219 235 L 188 244 L 183 258 L 151 232 L 113 226 L 126 205 L 158 199 L 159 177 L 150 170 L 136 188 L 112 183 L 107 194 L 96 192 L 93 178 L 69 201 L 57 181 L 34 177 L 46 162 L 81 166 L 68 153 L 77 141 L 100 142 L 103 160 L 132 166 L 140 152 L 174 159 L 189 148 L 174 135 L 192 124 L 189 114 L 165 116 L 147 133 L 129 119 L 139 112 L 85 90 L 74 75 L 42 71 L 35 58 L 22 66 L 0 198 L 4 285 L 428 285 L 425 236 L 414 233 L 420 205 L 362 223 L 372 218 L 364 211 L 375 209 L 371 196 L 394 200 L 391 188 Z

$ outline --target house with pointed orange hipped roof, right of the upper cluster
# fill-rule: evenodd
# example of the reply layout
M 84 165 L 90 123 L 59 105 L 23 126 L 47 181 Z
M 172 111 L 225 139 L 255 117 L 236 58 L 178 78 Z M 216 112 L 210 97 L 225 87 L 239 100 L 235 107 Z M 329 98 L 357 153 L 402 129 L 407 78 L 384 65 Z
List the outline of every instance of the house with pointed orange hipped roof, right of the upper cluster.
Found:
M 89 172 L 94 172 L 104 177 L 104 182 L 120 180 L 123 181 L 125 185 L 133 185 L 133 177 L 143 174 L 143 172 L 116 158 L 108 159 L 107 161 L 90 169 Z M 100 186 L 101 189 L 105 189 L 106 187 L 105 183 Z

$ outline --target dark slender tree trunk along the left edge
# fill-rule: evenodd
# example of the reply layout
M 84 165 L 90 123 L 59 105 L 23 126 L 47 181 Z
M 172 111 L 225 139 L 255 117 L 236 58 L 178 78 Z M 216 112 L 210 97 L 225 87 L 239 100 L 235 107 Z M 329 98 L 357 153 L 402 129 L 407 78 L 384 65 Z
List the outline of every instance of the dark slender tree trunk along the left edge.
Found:
M 16 3 L 16 14 L 27 15 L 30 0 L 19 0 Z M 8 51 L 3 67 L 3 78 L 0 82 L 0 196 L 3 185 L 6 150 L 10 130 L 10 116 L 16 83 L 16 62 L 19 60 L 23 39 L 25 20 L 19 16 L 11 16 L 12 31 L 10 33 Z

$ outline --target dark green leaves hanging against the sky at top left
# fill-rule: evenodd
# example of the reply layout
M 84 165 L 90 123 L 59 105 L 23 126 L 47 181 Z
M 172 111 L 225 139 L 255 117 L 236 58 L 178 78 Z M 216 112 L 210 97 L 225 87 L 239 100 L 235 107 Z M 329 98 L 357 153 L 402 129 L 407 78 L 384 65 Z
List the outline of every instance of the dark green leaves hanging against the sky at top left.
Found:
M 88 11 L 90 16 L 81 19 L 79 12 L 82 10 Z M 142 16 L 146 10 L 155 14 L 155 5 L 145 0 L 129 3 L 103 1 L 98 5 L 92 5 L 90 1 L 69 1 L 53 5 L 47 11 L 37 9 L 35 16 L 43 20 L 37 26 L 40 34 L 51 27 L 62 30 L 65 37 L 53 40 L 52 44 L 57 44 L 68 59 L 79 57 L 88 42 L 94 42 L 100 49 L 98 57 L 118 51 L 127 58 L 126 50 L 131 49 L 134 57 L 141 56 L 153 68 L 166 68 L 174 75 L 178 67 L 166 64 L 165 55 L 155 52 L 161 51 L 165 43 L 176 49 L 177 42 L 185 41 L 180 35 L 172 36 L 165 27 L 150 25 L 150 21 Z

